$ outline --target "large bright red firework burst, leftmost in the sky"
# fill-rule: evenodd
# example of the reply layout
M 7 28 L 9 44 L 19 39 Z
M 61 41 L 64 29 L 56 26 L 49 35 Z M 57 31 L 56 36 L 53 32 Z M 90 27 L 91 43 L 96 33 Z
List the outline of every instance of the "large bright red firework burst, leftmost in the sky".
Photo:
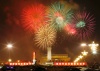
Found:
M 23 27 L 28 31 L 37 31 L 45 24 L 46 7 L 42 4 L 34 4 L 22 12 Z

